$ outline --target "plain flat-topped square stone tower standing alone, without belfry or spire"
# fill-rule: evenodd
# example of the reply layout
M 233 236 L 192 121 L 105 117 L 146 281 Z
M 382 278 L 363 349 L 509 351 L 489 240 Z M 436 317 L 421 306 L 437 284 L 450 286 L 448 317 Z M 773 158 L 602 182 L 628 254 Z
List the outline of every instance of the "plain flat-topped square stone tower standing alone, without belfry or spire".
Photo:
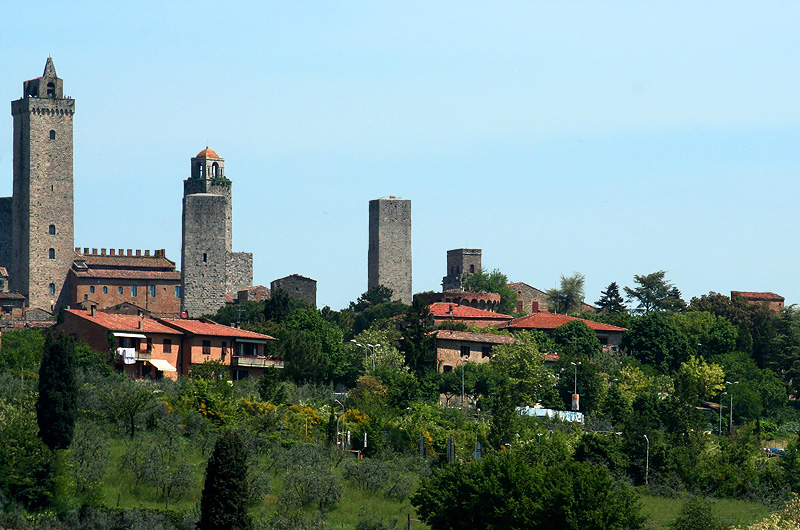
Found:
M 367 287 L 394 291 L 411 303 L 411 201 L 390 196 L 369 201 Z

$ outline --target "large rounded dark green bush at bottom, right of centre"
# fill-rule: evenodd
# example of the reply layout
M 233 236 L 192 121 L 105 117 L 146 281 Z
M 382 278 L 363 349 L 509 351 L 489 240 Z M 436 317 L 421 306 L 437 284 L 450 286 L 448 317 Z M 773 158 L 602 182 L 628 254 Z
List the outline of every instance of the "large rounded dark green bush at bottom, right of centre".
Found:
M 433 530 L 639 529 L 644 522 L 635 493 L 604 468 L 546 467 L 514 453 L 434 470 L 411 502 Z

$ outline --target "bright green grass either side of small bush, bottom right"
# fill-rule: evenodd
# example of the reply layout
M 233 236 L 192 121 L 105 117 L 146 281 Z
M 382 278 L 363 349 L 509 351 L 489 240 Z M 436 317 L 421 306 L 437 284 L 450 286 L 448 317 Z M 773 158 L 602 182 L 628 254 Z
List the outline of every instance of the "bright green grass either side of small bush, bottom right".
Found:
M 656 497 L 641 495 L 644 513 L 653 522 L 653 528 L 666 529 L 678 517 L 683 499 L 681 497 Z M 770 510 L 763 504 L 720 499 L 712 505 L 714 513 L 729 525 L 750 525 L 769 515 Z

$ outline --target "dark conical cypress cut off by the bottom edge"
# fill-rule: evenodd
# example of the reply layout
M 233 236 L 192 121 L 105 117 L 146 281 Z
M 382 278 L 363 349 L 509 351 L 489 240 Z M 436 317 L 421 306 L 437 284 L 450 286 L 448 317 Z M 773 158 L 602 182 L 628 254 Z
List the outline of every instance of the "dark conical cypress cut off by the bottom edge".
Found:
M 200 498 L 200 530 L 247 530 L 247 455 L 239 433 L 228 431 L 214 445 Z

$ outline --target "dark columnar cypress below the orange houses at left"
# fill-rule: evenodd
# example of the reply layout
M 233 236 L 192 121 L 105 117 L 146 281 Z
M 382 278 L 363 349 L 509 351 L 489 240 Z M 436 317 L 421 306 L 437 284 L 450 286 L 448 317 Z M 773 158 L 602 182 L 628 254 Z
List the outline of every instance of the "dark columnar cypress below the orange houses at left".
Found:
M 39 366 L 36 421 L 39 438 L 51 451 L 66 449 L 72 442 L 77 402 L 75 341 L 63 333 L 58 337 L 50 333 Z

